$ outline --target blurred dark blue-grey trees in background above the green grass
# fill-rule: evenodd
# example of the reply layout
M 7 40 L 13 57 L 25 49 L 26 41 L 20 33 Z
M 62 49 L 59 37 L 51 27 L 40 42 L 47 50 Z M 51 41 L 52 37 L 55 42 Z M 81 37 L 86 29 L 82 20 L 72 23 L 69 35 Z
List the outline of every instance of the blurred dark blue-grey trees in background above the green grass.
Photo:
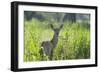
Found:
M 25 11 L 24 18 L 26 20 L 31 20 L 36 18 L 40 21 L 48 21 L 48 24 L 59 25 L 63 22 L 78 22 L 83 23 L 85 26 L 89 27 L 90 25 L 90 15 L 89 14 L 80 14 L 80 13 L 58 13 L 58 12 L 41 12 L 41 11 Z

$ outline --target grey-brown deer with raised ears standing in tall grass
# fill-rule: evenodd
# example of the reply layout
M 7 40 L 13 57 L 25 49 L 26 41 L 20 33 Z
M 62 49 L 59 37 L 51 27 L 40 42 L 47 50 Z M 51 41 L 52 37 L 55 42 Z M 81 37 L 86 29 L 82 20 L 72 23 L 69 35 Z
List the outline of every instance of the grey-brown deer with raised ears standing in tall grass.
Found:
M 59 33 L 63 27 L 63 24 L 61 24 L 59 28 L 54 28 L 52 24 L 50 24 L 50 27 L 54 32 L 53 38 L 51 41 L 43 41 L 41 44 L 41 49 L 43 54 L 47 55 L 49 60 L 52 60 L 53 50 L 57 46 Z

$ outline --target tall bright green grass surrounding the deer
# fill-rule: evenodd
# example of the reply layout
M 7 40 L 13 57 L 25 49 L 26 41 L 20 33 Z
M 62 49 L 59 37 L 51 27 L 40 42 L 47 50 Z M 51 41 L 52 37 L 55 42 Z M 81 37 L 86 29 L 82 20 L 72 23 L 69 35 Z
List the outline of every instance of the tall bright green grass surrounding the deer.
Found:
M 47 21 L 37 19 L 24 22 L 24 61 L 48 60 L 40 55 L 41 43 L 50 41 L 54 35 Z M 53 60 L 88 59 L 90 58 L 90 29 L 84 24 L 64 22 L 60 31 Z

